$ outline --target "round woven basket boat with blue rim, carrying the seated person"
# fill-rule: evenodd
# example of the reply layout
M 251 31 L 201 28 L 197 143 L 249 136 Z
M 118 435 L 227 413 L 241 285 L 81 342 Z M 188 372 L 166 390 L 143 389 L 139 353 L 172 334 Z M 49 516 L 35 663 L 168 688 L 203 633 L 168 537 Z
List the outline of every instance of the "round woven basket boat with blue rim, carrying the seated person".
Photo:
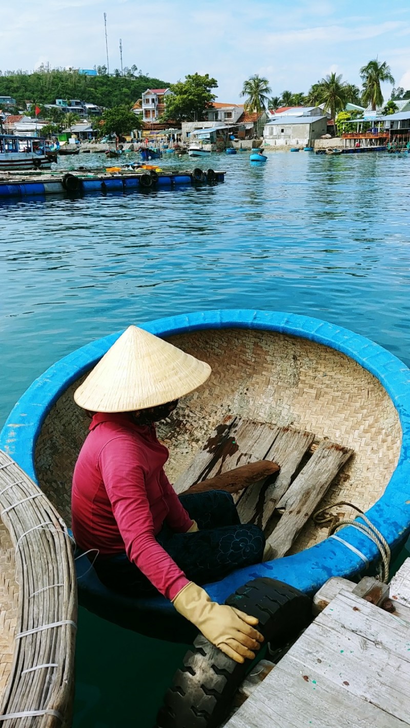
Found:
M 281 432 L 308 432 L 311 450 L 330 442 L 352 452 L 316 507 L 353 503 L 390 547 L 401 545 L 410 529 L 410 372 L 400 360 L 351 331 L 296 314 L 210 311 L 142 327 L 212 367 L 207 383 L 181 400 L 158 428 L 170 448 L 167 475 L 179 492 L 186 486 L 184 473 L 195 471 L 198 451 L 210 451 L 212 433 L 226 422 L 239 418 Z M 120 333 L 87 344 L 47 370 L 21 397 L 0 435 L 0 447 L 39 483 L 67 523 L 72 472 L 89 424 L 73 392 Z M 293 486 L 303 465 L 293 472 Z M 342 518 L 355 515 L 342 507 Z M 327 537 L 327 526 L 308 518 L 296 535 L 284 558 L 234 571 L 207 585 L 210 596 L 222 603 L 257 577 L 312 593 L 331 576 L 352 578 L 379 560 L 374 542 L 351 526 L 337 538 Z M 275 531 L 269 539 L 275 547 Z M 151 636 L 192 637 L 165 598 L 118 596 L 100 584 L 87 558 L 76 566 L 79 601 L 91 611 Z

